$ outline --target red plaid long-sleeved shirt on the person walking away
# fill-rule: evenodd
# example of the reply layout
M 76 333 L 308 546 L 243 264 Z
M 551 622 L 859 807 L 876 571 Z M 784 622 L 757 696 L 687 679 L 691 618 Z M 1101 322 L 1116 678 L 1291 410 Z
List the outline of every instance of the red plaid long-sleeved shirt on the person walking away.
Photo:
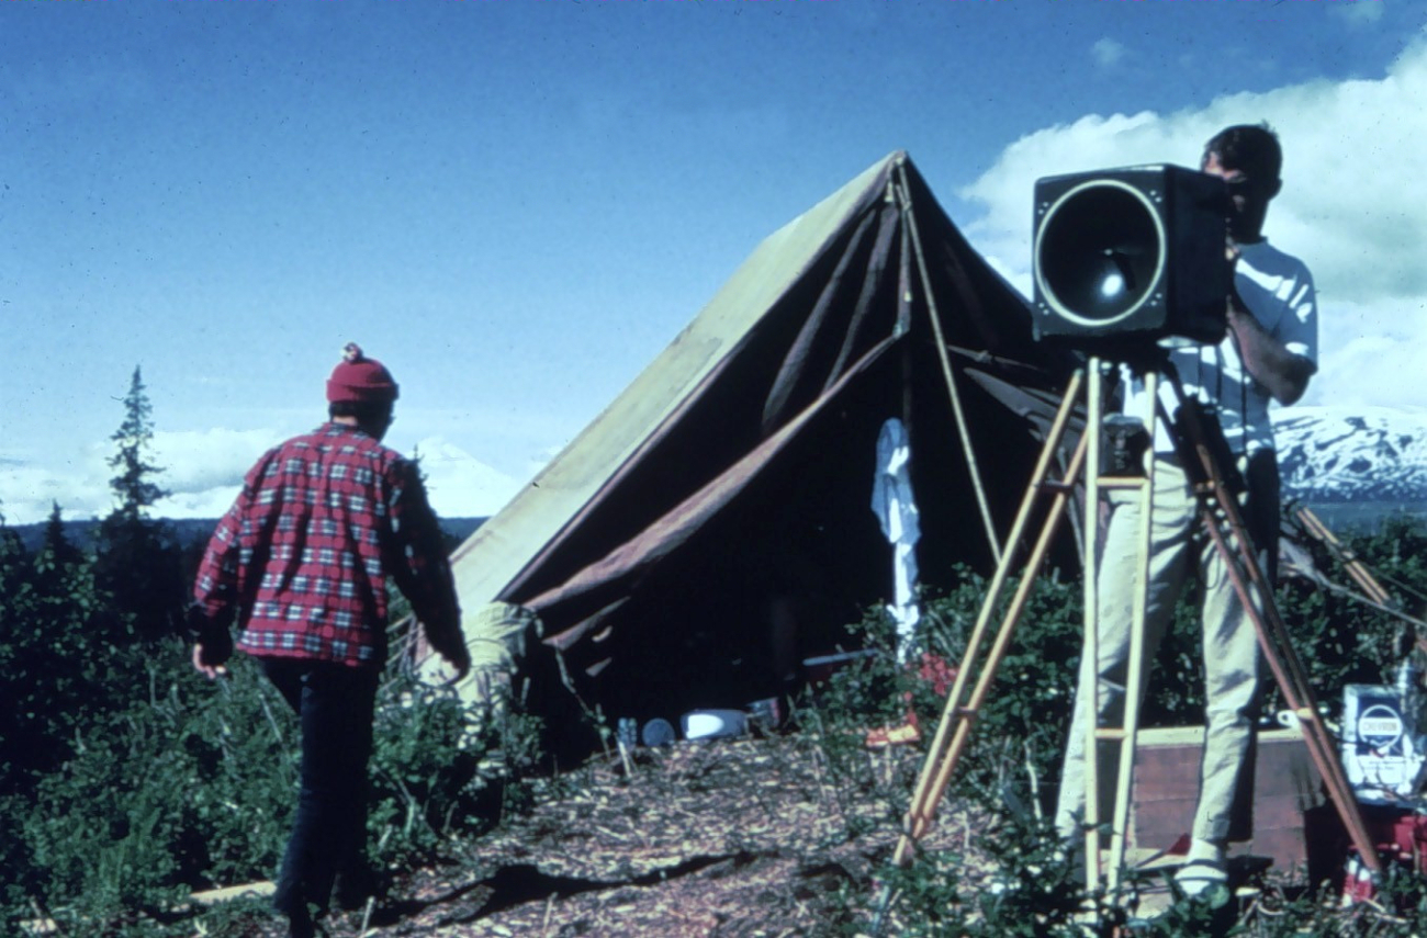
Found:
M 415 465 L 354 426 L 327 423 L 248 472 L 208 542 L 194 600 L 211 629 L 237 616 L 238 647 L 250 654 L 377 667 L 387 657 L 388 576 L 432 647 L 462 640 Z

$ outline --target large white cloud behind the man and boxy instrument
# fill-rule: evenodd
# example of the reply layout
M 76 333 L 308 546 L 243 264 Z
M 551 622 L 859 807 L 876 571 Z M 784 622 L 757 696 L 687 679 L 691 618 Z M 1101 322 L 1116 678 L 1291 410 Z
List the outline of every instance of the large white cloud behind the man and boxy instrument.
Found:
M 1427 405 L 1424 36 L 1378 80 L 1236 94 L 1174 114 L 1087 115 L 1022 137 L 962 192 L 985 207 L 968 235 L 1029 295 L 1037 178 L 1140 163 L 1196 165 L 1219 128 L 1267 120 L 1284 144 L 1284 188 L 1266 231 L 1307 261 L 1321 308 L 1321 368 L 1307 402 Z

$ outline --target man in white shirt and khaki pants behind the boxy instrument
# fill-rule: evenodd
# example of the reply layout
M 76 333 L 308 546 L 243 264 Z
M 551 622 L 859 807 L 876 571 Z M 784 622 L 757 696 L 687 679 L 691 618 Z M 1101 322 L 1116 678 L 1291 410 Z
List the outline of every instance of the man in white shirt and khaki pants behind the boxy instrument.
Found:
M 1277 569 L 1279 468 L 1269 401 L 1289 405 L 1303 396 L 1317 371 L 1317 304 L 1313 278 L 1301 261 L 1263 237 L 1269 201 L 1281 187 L 1283 154 L 1264 125 L 1234 125 L 1204 147 L 1200 170 L 1229 185 L 1229 249 L 1234 262 L 1227 329 L 1219 345 L 1179 346 L 1169 354 L 1184 393 L 1217 415 L 1229 450 L 1247 482 L 1244 520 L 1264 572 Z M 1143 382 L 1126 369 L 1123 412 L 1149 422 Z M 1174 406 L 1169 382 L 1162 396 Z M 1173 412 L 1173 411 L 1172 411 Z M 1253 622 L 1234 592 L 1223 560 L 1197 520 L 1197 505 L 1163 423 L 1152 449 L 1154 502 L 1146 590 L 1146 660 L 1152 660 L 1173 617 L 1183 586 L 1197 566 L 1203 592 L 1204 754 L 1192 847 L 1179 881 L 1189 894 L 1226 881 L 1230 841 L 1251 834 L 1254 723 L 1259 711 L 1260 651 Z M 1149 458 L 1149 456 L 1147 456 Z M 1233 468 L 1224 466 L 1229 472 Z M 1096 673 L 1099 720 L 1119 726 L 1127 674 L 1132 603 L 1139 592 L 1139 495 L 1112 492 L 1110 519 L 1099 573 L 1099 667 L 1082 656 L 1076 716 L 1066 747 L 1056 827 L 1070 838 L 1085 813 L 1085 720 L 1079 701 Z M 1102 817 L 1110 817 L 1102 798 Z

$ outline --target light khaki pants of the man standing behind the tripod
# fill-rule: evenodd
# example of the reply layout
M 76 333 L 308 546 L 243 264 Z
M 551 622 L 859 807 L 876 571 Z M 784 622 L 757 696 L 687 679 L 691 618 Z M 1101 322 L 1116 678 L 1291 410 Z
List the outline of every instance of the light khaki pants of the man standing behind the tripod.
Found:
M 1267 460 L 1259 456 L 1267 456 Z M 1277 463 L 1264 450 L 1249 466 L 1253 499 L 1243 505 L 1256 543 L 1277 546 Z M 1264 462 L 1270 465 L 1264 465 Z M 1256 478 L 1259 476 L 1259 478 Z M 1271 478 L 1266 478 L 1271 476 Z M 1269 489 L 1269 490 L 1263 490 Z M 1085 814 L 1085 737 L 1087 708 L 1080 707 L 1099 674 L 1099 724 L 1122 726 L 1129 671 L 1132 604 L 1139 590 L 1140 507 L 1137 492 L 1109 493 L 1110 519 L 1099 577 L 1099 661 L 1082 654 L 1076 710 L 1066 746 L 1056 828 L 1070 837 Z M 1197 565 L 1203 597 L 1204 756 L 1193 837 L 1247 840 L 1253 830 L 1254 724 L 1259 714 L 1261 656 L 1253 622 L 1243 607 L 1219 553 L 1199 522 L 1183 469 L 1169 456 L 1156 458 L 1150 525 L 1149 590 L 1144 614 L 1146 663 L 1153 661 L 1183 593 L 1190 565 Z M 1266 552 L 1260 563 L 1273 570 Z M 1147 677 L 1149 667 L 1142 674 Z M 1153 693 L 1153 690 L 1150 690 Z M 1113 746 L 1104 748 L 1114 750 Z M 1113 817 L 1114 758 L 1100 761 L 1100 820 Z

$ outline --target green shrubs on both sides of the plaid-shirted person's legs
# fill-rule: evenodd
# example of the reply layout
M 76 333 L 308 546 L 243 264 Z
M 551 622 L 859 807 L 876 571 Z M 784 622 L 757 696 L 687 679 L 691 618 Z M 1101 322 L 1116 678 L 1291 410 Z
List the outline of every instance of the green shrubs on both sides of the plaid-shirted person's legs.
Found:
M 11 912 L 34 897 L 77 929 L 141 928 L 137 912 L 158 921 L 191 891 L 273 874 L 297 794 L 295 720 L 250 659 L 235 657 L 210 686 L 186 657 L 163 643 L 143 696 L 91 718 L 33 801 L 6 805 L 23 831 L 13 862 L 36 871 L 24 895 L 9 897 Z M 508 763 L 484 757 L 507 724 L 478 723 L 452 691 L 390 674 L 374 736 L 368 842 L 378 868 L 437 857 L 499 808 L 492 794 Z M 519 744 L 512 737 L 504 751 Z

